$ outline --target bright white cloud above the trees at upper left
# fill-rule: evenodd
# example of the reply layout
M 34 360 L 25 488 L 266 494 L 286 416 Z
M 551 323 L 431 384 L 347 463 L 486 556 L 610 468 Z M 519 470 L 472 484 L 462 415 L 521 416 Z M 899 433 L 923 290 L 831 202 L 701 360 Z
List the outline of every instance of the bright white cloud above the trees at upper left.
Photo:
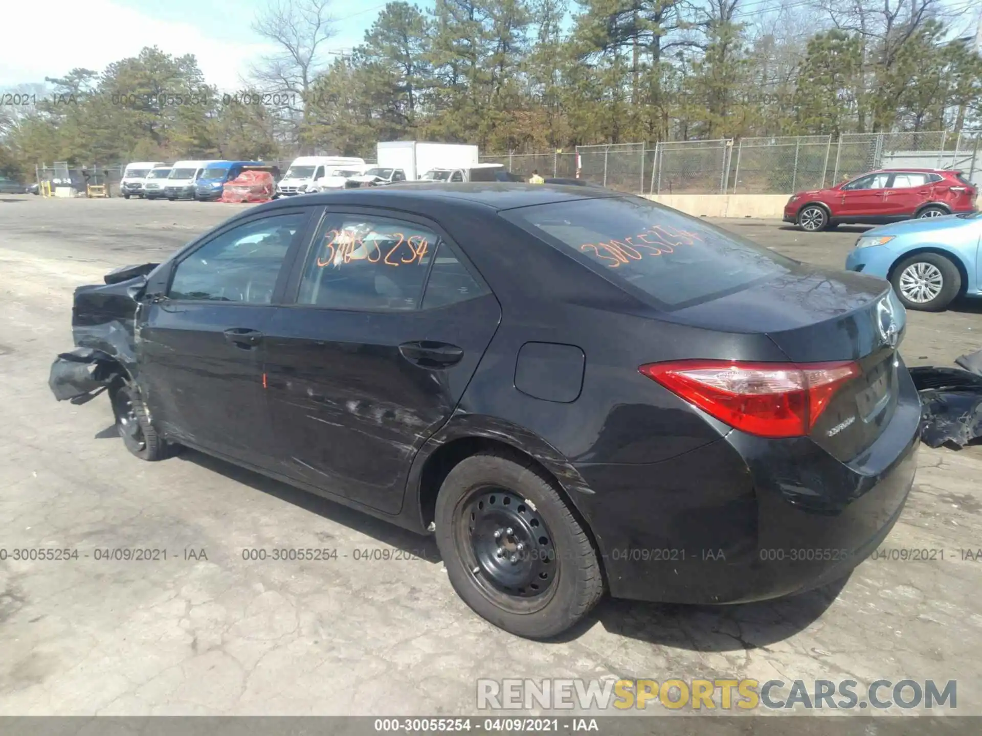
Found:
M 191 23 L 159 21 L 109 0 L 5 2 L 0 88 L 62 77 L 76 67 L 102 72 L 144 46 L 194 54 L 204 78 L 223 90 L 241 89 L 248 60 L 268 47 L 212 38 Z M 16 28 L 16 32 L 10 29 Z

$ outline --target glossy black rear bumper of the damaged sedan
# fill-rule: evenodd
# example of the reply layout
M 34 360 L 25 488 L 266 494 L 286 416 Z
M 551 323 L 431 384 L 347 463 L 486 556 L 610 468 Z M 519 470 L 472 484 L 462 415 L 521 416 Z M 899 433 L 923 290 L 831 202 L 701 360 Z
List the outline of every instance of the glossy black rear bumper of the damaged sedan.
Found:
M 582 464 L 575 500 L 617 598 L 732 604 L 844 577 L 890 533 L 913 484 L 920 402 L 906 371 L 893 419 L 844 463 L 808 439 L 731 431 L 654 464 Z

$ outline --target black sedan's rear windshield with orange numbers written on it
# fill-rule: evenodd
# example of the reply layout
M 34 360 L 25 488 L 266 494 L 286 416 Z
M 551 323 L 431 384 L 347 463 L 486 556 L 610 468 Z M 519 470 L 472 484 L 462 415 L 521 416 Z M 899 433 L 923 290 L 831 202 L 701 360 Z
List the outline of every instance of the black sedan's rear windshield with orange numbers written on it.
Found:
M 791 259 L 640 197 L 578 199 L 502 213 L 615 283 L 680 309 L 786 273 Z

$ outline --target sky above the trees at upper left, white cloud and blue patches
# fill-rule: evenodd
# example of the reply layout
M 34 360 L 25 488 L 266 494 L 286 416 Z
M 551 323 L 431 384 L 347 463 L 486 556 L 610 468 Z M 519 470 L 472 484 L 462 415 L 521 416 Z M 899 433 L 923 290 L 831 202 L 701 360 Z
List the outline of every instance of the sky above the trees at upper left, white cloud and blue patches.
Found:
M 246 72 L 242 58 L 264 48 L 249 26 L 266 1 L 5 0 L 4 25 L 18 31 L 5 33 L 0 44 L 0 88 L 43 82 L 75 67 L 101 72 L 156 44 L 170 54 L 193 53 L 208 81 L 239 89 Z M 416 4 L 431 7 L 432 0 Z M 384 6 L 379 0 L 335 0 L 337 35 L 328 47 L 359 44 Z

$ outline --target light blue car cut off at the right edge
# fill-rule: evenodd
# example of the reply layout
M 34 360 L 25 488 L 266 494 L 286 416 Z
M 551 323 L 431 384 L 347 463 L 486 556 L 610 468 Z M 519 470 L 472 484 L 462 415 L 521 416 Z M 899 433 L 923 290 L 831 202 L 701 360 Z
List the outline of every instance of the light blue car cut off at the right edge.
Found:
M 982 296 L 982 213 L 908 220 L 863 233 L 846 269 L 890 280 L 908 309 L 940 312 Z

